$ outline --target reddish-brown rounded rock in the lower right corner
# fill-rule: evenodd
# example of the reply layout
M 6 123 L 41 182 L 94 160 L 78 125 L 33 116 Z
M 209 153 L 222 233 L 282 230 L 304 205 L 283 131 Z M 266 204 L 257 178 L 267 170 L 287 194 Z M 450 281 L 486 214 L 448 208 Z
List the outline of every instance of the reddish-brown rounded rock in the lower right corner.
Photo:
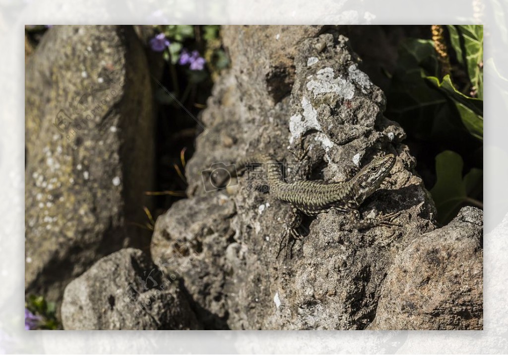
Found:
M 413 241 L 388 272 L 368 329 L 483 329 L 483 212 L 463 208 Z

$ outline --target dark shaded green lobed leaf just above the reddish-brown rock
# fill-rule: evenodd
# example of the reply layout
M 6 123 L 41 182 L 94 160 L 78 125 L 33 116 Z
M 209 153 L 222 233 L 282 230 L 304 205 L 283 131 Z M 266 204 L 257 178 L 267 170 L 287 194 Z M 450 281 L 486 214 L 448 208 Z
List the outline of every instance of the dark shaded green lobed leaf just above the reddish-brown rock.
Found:
M 451 221 L 465 203 L 481 205 L 474 197 L 481 194 L 483 170 L 473 168 L 462 178 L 463 166 L 462 158 L 455 152 L 444 151 L 436 156 L 437 181 L 430 193 L 441 224 Z

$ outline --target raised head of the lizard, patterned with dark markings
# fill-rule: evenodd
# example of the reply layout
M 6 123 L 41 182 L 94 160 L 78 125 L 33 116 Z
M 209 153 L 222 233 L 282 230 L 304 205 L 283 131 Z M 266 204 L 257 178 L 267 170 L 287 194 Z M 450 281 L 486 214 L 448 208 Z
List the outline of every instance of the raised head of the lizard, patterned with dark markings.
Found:
M 358 204 L 361 204 L 379 188 L 394 165 L 395 156 L 388 154 L 384 157 L 374 158 L 355 175 L 353 182 L 358 188 L 355 196 Z

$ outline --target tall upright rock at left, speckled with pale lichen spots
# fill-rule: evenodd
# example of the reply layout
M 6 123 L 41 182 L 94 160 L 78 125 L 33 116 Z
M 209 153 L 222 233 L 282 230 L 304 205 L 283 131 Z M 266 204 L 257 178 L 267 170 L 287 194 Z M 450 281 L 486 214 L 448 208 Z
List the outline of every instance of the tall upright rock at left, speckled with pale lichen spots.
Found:
M 25 75 L 25 290 L 59 301 L 90 265 L 146 248 L 150 75 L 130 26 L 54 26 Z

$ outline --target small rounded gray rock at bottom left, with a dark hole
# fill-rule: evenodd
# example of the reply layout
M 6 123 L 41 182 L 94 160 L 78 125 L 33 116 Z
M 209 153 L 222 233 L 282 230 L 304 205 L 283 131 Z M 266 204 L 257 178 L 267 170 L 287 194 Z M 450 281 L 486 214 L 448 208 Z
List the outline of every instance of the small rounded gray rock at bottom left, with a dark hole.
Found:
M 66 330 L 201 329 L 183 291 L 138 249 L 103 257 L 65 289 Z

